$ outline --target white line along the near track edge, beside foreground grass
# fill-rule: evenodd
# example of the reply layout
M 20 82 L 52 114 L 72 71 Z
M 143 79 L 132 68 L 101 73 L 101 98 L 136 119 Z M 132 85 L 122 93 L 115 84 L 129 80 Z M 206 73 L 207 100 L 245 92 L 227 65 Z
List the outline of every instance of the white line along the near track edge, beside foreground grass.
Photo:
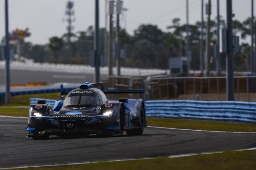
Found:
M 234 151 L 248 151 L 248 150 L 256 150 L 256 148 L 239 149 L 239 150 L 234 150 Z M 168 158 L 177 158 L 177 157 L 194 156 L 194 155 L 206 155 L 206 154 L 223 153 L 223 152 L 224 151 L 180 154 L 180 155 L 171 155 L 171 156 L 168 156 Z M 2 169 L 15 169 L 15 168 L 37 168 L 37 167 L 51 167 L 51 166 L 81 165 L 81 164 L 94 164 L 94 163 L 103 163 L 103 162 L 118 162 L 118 161 L 146 160 L 146 159 L 160 159 L 160 158 L 165 158 L 165 156 L 163 156 L 163 157 L 130 158 L 130 159 L 111 159 L 111 160 L 105 160 L 105 161 L 77 162 L 77 163 L 66 163 L 66 164 L 20 166 L 20 167 L 10 167 L 10 168 L 0 168 L 0 170 L 2 170 Z

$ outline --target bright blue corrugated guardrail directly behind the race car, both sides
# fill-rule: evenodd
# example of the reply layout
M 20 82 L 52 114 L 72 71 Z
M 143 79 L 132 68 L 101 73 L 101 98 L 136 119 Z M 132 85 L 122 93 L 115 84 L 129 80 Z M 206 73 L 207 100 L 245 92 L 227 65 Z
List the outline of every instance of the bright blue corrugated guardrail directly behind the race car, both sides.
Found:
M 54 106 L 56 100 L 30 98 L 30 104 L 46 100 Z M 197 100 L 151 100 L 146 101 L 147 117 L 177 118 L 256 123 L 256 102 L 197 101 Z

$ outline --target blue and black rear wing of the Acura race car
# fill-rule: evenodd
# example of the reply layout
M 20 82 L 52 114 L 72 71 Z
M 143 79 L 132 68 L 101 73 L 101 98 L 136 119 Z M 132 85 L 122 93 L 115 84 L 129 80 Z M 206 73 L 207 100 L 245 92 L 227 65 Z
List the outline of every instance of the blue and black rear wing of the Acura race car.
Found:
M 143 94 L 142 98 L 145 102 L 146 100 L 146 90 L 145 90 L 145 83 L 142 85 L 142 89 L 129 89 L 129 90 L 104 90 L 103 89 L 103 83 L 91 83 L 94 88 L 98 88 L 101 91 L 103 91 L 105 94 L 135 94 L 135 93 L 141 93 Z M 60 85 L 60 97 L 63 100 L 63 95 L 69 94 L 71 90 L 64 90 L 63 84 Z

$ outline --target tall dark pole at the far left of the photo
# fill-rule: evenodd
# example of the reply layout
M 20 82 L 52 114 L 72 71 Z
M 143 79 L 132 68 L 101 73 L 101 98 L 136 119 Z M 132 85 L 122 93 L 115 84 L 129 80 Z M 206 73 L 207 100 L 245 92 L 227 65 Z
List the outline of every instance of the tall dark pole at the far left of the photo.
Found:
M 11 103 L 8 0 L 5 0 L 5 103 Z

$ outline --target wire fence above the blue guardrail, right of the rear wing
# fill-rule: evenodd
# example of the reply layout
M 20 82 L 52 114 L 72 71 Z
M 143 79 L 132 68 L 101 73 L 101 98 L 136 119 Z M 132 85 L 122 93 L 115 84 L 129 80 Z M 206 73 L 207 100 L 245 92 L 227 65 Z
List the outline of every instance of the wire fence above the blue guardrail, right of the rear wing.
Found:
M 162 77 L 150 79 L 149 99 L 226 100 L 226 77 Z M 256 76 L 234 76 L 234 100 L 256 102 Z

